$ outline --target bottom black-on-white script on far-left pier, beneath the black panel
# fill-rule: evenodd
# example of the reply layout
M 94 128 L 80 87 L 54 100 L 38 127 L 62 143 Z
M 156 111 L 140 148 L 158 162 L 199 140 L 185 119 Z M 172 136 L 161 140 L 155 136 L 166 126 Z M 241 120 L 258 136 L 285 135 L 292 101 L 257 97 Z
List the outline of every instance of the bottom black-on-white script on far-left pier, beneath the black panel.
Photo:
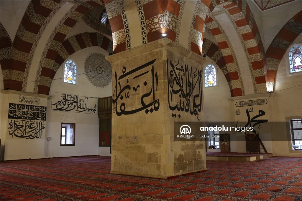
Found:
M 8 120 L 8 134 L 11 137 L 38 139 L 42 137 L 44 128 L 44 121 Z

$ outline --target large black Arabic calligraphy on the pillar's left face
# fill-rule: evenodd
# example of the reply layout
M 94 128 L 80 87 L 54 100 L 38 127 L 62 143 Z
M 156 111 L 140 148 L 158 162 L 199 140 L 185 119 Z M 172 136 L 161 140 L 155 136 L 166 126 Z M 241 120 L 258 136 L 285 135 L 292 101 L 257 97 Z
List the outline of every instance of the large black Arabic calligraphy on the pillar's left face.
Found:
M 125 66 L 115 71 L 113 83 L 113 113 L 117 116 L 130 115 L 139 111 L 151 114 L 159 109 L 156 98 L 158 75 L 154 70 L 156 59 L 137 68 L 128 70 Z

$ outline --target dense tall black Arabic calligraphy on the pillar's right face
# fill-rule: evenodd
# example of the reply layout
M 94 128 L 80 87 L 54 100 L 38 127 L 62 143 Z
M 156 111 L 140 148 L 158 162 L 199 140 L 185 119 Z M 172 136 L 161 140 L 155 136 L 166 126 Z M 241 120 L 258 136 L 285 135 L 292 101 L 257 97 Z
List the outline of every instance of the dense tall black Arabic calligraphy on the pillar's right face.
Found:
M 202 71 L 167 59 L 168 102 L 172 117 L 181 118 L 180 111 L 202 119 Z M 178 113 L 178 114 L 177 114 Z

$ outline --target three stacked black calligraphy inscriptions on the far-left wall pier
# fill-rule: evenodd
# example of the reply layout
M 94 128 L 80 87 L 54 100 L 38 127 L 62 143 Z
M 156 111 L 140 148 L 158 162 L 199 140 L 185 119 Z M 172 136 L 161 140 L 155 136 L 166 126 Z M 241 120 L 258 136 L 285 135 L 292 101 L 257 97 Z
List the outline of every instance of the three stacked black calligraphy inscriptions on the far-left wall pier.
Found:
M 37 97 L 11 95 L 11 103 L 8 105 L 8 139 L 42 138 L 46 127 L 46 106 L 39 106 L 39 104 L 40 98 Z

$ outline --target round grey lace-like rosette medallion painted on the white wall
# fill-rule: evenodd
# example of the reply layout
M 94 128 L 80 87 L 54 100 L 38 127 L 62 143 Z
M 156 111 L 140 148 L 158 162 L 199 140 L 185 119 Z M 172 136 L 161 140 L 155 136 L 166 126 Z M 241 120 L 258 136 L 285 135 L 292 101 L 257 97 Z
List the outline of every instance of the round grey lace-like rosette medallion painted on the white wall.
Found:
M 112 80 L 111 64 L 100 53 L 90 54 L 84 67 L 88 80 L 95 86 L 105 87 Z

